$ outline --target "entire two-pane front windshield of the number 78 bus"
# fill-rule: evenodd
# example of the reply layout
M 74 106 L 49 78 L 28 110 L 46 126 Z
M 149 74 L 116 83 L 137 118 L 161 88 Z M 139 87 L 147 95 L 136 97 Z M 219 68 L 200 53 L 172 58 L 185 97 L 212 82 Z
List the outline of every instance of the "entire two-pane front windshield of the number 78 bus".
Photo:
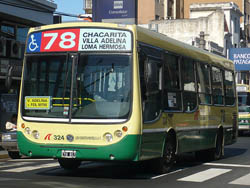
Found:
M 32 55 L 23 75 L 23 116 L 127 119 L 131 105 L 131 56 Z

